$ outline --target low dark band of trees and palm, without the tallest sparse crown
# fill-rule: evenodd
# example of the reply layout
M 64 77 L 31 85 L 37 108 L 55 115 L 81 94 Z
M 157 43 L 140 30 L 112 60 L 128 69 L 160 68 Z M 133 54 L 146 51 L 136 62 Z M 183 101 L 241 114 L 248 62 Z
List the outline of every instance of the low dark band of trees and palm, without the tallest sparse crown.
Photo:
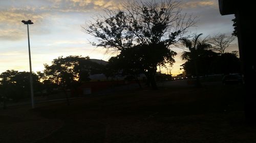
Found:
M 208 39 L 200 39 L 202 34 L 196 35 L 194 39 L 182 39 L 183 45 L 187 48 L 181 58 L 186 62 L 182 65 L 188 76 L 204 76 L 208 74 L 229 74 L 240 73 L 240 60 L 237 52 L 224 52 L 222 54 L 212 51 Z M 174 63 L 174 51 L 169 50 L 165 45 L 157 44 L 136 45 L 126 48 L 117 56 L 109 60 L 109 64 L 101 65 L 90 60 L 89 56 L 60 56 L 52 61 L 52 65 L 45 64 L 43 72 L 33 73 L 35 92 L 45 90 L 51 93 L 53 88 L 76 89 L 83 82 L 90 81 L 89 76 L 93 74 L 105 74 L 106 77 L 116 75 L 133 78 L 140 85 L 138 76 L 144 74 L 147 83 L 156 87 L 155 72 L 156 65 L 165 65 L 166 62 Z M 157 47 L 157 48 L 155 48 Z M 166 59 L 166 57 L 171 57 Z M 200 85 L 199 78 L 197 85 Z M 9 99 L 17 102 L 28 98 L 29 93 L 29 72 L 18 72 L 7 70 L 0 75 L 1 100 L 6 102 Z M 68 97 L 68 96 L 67 96 Z M 67 98 L 68 99 L 68 98 Z

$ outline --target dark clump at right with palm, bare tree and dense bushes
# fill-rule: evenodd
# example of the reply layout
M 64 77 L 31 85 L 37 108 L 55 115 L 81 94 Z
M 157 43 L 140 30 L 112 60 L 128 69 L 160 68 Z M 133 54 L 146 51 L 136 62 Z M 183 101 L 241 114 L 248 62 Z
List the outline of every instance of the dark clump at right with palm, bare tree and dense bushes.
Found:
M 240 73 L 241 64 L 237 57 L 237 52 L 224 52 L 233 39 L 225 35 L 218 35 L 212 44 L 211 39 L 200 40 L 202 34 L 196 35 L 193 40 L 183 39 L 183 44 L 188 51 L 184 51 L 181 55 L 182 60 L 186 62 L 182 65 L 188 75 L 204 76 L 208 74 L 229 74 Z M 212 46 L 214 45 L 214 46 Z M 216 53 L 216 49 L 219 52 Z M 214 51 L 213 51 L 214 50 Z M 218 50 L 217 50 L 218 51 Z

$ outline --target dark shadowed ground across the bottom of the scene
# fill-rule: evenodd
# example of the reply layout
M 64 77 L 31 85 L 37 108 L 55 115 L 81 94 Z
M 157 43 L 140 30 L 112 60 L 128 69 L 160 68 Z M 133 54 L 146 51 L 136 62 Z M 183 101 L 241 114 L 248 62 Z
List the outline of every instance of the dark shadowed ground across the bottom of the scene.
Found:
M 0 142 L 256 142 L 241 85 L 165 87 L 0 110 Z

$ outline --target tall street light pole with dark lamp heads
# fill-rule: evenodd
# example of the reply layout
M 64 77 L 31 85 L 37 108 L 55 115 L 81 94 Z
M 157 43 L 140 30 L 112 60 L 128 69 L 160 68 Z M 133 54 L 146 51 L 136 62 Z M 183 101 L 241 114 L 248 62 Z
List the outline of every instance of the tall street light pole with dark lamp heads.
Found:
M 22 20 L 22 22 L 26 24 L 28 27 L 28 41 L 29 41 L 29 24 L 34 24 L 34 23 L 31 20 L 28 20 L 28 21 Z M 30 78 L 31 104 L 32 104 L 32 108 L 34 108 L 35 106 L 34 106 L 34 90 L 33 90 L 32 68 L 31 68 L 31 56 L 30 56 L 30 43 L 29 43 L 29 68 L 30 68 L 29 78 Z

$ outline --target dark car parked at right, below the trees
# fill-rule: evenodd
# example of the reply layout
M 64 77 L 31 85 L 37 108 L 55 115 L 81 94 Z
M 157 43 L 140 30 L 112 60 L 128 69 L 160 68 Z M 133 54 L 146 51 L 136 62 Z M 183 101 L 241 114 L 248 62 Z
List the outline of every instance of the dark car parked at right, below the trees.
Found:
M 222 79 L 223 84 L 243 84 L 243 76 L 241 74 L 228 74 L 224 75 Z

